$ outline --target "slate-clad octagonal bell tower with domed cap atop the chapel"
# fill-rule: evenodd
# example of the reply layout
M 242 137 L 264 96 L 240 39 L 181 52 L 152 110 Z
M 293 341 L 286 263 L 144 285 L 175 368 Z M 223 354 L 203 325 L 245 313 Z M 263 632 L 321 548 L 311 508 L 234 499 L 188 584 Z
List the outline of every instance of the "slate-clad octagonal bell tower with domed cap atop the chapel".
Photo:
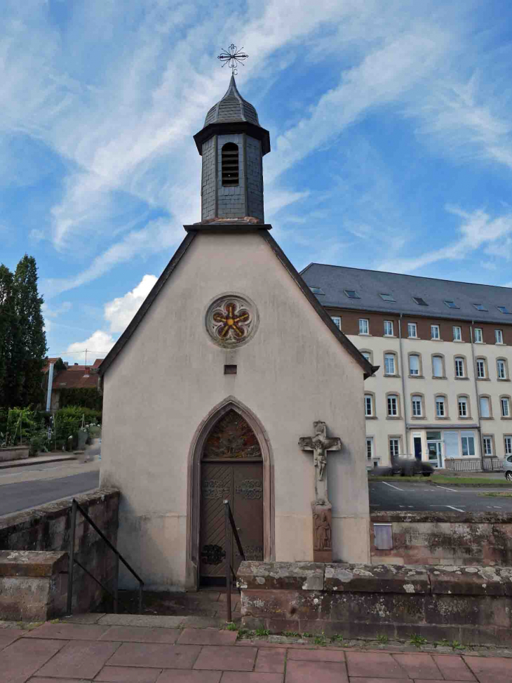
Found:
M 201 223 L 244 218 L 264 223 L 262 159 L 270 152 L 270 135 L 238 92 L 234 76 L 194 140 L 203 157 Z

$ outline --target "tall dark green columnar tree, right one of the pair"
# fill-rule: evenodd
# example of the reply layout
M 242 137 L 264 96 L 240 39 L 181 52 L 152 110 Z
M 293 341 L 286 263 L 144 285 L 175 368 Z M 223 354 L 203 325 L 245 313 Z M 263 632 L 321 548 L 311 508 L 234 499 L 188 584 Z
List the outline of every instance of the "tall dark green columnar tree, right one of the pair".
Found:
M 46 333 L 41 306 L 43 298 L 37 289 L 37 266 L 33 256 L 25 254 L 14 274 L 15 313 L 18 333 L 13 338 L 12 359 L 21 373 L 18 396 L 11 405 L 37 405 L 43 400 L 41 376 L 46 357 Z

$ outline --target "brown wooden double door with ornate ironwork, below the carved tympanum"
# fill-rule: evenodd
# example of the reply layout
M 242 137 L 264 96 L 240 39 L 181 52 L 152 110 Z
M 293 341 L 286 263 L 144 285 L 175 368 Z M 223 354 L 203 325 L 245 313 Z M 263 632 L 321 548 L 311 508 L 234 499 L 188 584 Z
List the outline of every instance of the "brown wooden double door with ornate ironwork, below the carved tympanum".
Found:
M 224 500 L 229 500 L 245 559 L 263 559 L 263 463 L 261 458 L 203 460 L 199 574 L 202 585 L 226 585 Z M 231 561 L 242 559 L 233 538 Z

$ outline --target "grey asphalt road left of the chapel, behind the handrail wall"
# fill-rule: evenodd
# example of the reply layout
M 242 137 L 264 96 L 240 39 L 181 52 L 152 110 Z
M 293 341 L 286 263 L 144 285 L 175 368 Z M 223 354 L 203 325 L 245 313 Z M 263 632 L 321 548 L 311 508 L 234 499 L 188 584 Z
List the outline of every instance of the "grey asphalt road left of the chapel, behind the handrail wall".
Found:
M 99 482 L 100 473 L 95 470 L 59 479 L 35 479 L 29 482 L 4 484 L 0 487 L 0 515 L 90 491 L 96 489 Z

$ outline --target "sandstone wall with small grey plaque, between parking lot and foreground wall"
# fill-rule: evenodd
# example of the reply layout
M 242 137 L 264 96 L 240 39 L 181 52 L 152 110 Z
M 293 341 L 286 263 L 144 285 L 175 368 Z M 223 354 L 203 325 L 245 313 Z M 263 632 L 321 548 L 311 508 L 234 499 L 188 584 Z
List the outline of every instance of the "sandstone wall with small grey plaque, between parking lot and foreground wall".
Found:
M 370 541 L 372 564 L 512 566 L 512 513 L 373 512 Z

